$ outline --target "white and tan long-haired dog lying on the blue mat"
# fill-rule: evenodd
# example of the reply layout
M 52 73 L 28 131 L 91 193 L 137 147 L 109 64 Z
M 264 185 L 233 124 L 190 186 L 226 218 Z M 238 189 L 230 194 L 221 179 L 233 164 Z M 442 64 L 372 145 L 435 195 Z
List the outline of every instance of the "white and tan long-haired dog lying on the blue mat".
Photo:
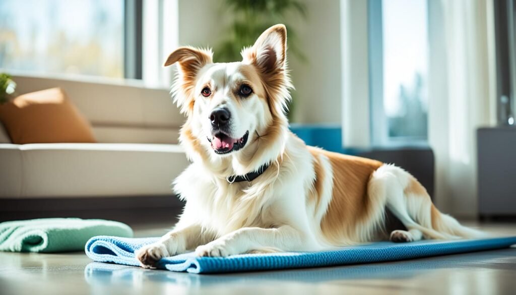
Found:
M 286 28 L 270 27 L 243 60 L 213 63 L 212 51 L 181 47 L 174 101 L 186 115 L 180 143 L 191 164 L 174 180 L 186 201 L 179 222 L 136 257 L 153 268 L 162 257 L 333 250 L 390 239 L 481 236 L 441 213 L 405 170 L 304 144 L 288 129 L 293 88 Z M 385 212 L 405 228 L 385 232 Z

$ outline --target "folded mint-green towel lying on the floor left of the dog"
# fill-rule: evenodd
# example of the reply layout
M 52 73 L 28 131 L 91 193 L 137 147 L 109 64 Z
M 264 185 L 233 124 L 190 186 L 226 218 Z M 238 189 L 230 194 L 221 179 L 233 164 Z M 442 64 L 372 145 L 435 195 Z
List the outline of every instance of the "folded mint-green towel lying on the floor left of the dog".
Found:
M 94 236 L 133 237 L 126 224 L 102 219 L 45 218 L 0 223 L 0 251 L 68 252 L 84 250 Z

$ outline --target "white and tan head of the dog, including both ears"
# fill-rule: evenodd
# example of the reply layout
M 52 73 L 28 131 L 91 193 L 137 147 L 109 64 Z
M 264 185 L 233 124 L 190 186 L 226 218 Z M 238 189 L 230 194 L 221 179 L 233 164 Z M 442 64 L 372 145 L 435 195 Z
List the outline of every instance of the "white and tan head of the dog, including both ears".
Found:
M 270 27 L 241 55 L 239 62 L 213 63 L 211 50 L 182 47 L 165 63 L 178 63 L 172 90 L 188 117 L 189 139 L 217 157 L 246 149 L 271 124 L 286 124 L 285 26 Z

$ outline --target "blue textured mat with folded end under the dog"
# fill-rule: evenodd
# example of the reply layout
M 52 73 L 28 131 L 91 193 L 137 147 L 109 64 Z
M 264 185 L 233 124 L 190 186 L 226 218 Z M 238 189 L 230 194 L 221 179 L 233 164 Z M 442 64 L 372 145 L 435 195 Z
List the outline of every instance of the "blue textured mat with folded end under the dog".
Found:
M 85 251 L 88 257 L 97 262 L 139 266 L 134 252 L 158 239 L 98 236 L 86 243 Z M 514 244 L 516 244 L 516 237 L 454 241 L 424 240 L 410 243 L 378 242 L 343 247 L 342 250 L 336 251 L 243 254 L 225 258 L 196 257 L 193 253 L 187 253 L 162 258 L 157 268 L 190 273 L 228 273 L 340 266 L 503 249 Z

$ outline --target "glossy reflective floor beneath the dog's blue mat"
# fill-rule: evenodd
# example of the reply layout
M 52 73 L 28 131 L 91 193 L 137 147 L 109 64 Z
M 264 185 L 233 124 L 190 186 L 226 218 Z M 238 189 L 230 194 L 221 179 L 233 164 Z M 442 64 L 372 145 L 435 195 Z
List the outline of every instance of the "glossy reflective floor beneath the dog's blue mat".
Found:
M 516 235 L 516 224 L 480 225 Z M 163 225 L 134 226 L 159 236 Z M 156 228 L 163 228 L 158 229 Z M 92 262 L 84 253 L 0 252 L 0 294 L 516 294 L 516 248 L 400 262 L 196 275 Z

